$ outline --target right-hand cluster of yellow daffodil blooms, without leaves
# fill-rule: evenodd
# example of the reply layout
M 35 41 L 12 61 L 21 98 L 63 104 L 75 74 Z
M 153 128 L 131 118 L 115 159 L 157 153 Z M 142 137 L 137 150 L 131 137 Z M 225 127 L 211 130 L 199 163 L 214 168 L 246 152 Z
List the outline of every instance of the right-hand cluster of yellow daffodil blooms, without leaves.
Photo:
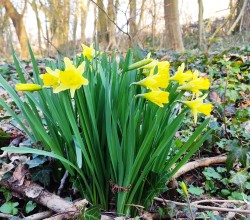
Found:
M 195 99 L 192 98 L 190 101 L 180 100 L 181 103 L 185 104 L 191 109 L 195 124 L 197 123 L 198 113 L 210 116 L 212 104 L 203 102 L 207 97 L 207 94 L 200 97 L 200 95 L 203 94 L 201 91 L 206 91 L 209 89 L 209 80 L 199 77 L 198 70 L 195 70 L 194 72 L 187 70 L 184 72 L 184 63 L 182 63 L 182 65 L 177 69 L 174 76 L 170 77 L 169 67 L 169 62 L 159 62 L 156 60 L 153 60 L 147 65 L 140 67 L 142 69 L 149 69 L 149 76 L 138 82 L 132 83 L 132 85 L 144 86 L 150 91 L 147 93 L 138 94 L 136 97 L 143 97 L 158 105 L 159 107 L 163 107 L 163 104 L 167 104 L 169 102 L 169 92 L 166 90 L 169 83 L 173 81 L 179 84 L 178 90 L 189 91 L 192 94 L 192 97 L 195 97 Z M 154 74 L 155 68 L 157 68 L 156 74 Z

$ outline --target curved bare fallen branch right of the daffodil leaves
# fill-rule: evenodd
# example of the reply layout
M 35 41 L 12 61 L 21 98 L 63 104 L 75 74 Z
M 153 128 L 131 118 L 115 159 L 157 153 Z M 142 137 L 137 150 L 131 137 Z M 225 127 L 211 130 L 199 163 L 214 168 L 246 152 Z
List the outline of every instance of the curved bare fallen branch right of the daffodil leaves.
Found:
M 176 174 L 172 177 L 172 179 L 177 179 L 184 173 L 187 173 L 195 168 L 198 167 L 207 167 L 210 164 L 215 163 L 225 163 L 227 157 L 226 156 L 217 156 L 217 157 L 209 157 L 209 158 L 203 158 L 200 160 L 192 161 L 187 164 L 185 164 L 183 167 L 181 167 Z

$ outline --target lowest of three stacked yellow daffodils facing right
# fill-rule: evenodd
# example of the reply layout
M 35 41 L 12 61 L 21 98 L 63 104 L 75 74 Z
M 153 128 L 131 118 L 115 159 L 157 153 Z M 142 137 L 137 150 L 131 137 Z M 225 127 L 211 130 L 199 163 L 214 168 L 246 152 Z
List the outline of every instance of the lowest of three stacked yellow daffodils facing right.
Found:
M 144 94 L 138 94 L 136 97 L 143 97 L 158 105 L 159 107 L 163 107 L 163 103 L 168 103 L 169 93 L 165 91 L 151 91 Z

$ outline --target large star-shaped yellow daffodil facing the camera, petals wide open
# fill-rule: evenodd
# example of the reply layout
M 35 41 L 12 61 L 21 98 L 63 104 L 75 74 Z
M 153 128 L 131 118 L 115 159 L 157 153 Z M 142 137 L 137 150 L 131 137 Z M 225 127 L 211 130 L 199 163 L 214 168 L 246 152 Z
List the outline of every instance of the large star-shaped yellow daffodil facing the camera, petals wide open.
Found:
M 69 89 L 71 97 L 74 97 L 75 91 L 82 85 L 88 85 L 89 81 L 82 76 L 85 68 L 83 62 L 76 68 L 69 58 L 64 58 L 65 70 L 59 72 L 60 85 L 55 88 L 54 92 L 58 93 Z

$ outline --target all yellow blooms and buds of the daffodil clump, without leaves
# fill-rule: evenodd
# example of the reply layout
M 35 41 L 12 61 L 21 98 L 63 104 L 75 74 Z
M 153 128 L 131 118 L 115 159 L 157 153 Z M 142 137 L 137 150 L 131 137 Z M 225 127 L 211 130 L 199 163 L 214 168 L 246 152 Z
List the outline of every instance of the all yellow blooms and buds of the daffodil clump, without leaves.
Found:
M 96 51 L 93 45 L 90 47 L 82 45 L 83 56 L 91 61 Z M 82 62 L 78 67 L 76 67 L 69 58 L 64 58 L 65 69 L 52 70 L 49 67 L 46 68 L 46 73 L 40 75 L 43 80 L 44 87 L 51 87 L 54 93 L 59 93 L 61 91 L 70 90 L 71 98 L 74 97 L 75 91 L 81 86 L 88 85 L 88 79 L 84 78 L 85 62 Z M 176 82 L 179 87 L 177 90 L 189 91 L 192 95 L 192 99 L 188 101 L 179 100 L 179 102 L 188 106 L 193 114 L 194 122 L 197 123 L 198 113 L 202 113 L 206 116 L 210 116 L 212 111 L 212 104 L 204 103 L 207 95 L 202 95 L 202 91 L 206 91 L 210 87 L 210 82 L 208 79 L 199 77 L 198 70 L 191 71 L 185 69 L 185 64 L 183 63 L 175 72 L 175 74 L 170 77 L 169 72 L 170 64 L 168 61 L 157 61 L 150 59 L 148 56 L 146 59 L 134 63 L 128 67 L 128 70 L 133 69 L 143 69 L 147 70 L 147 77 L 144 79 L 132 83 L 132 85 L 139 85 L 146 87 L 149 91 L 142 94 L 137 94 L 135 97 L 145 98 L 152 103 L 158 105 L 159 107 L 164 107 L 164 104 L 169 102 L 169 92 L 167 87 L 169 83 Z M 145 73 L 145 71 L 143 71 Z M 35 91 L 40 90 L 41 86 L 36 84 L 17 84 L 16 90 L 19 91 Z M 195 97 L 195 98 L 194 98 Z

